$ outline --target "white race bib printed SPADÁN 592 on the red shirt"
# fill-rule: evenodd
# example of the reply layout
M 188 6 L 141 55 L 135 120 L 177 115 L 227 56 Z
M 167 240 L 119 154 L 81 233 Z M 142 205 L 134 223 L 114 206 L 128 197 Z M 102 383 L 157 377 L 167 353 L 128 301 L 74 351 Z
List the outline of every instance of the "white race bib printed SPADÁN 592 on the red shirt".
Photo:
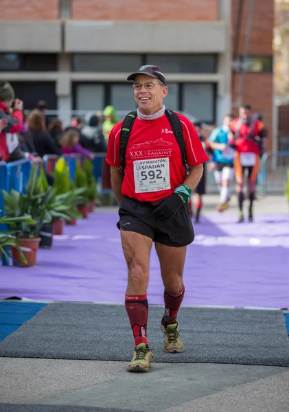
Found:
M 169 158 L 135 160 L 133 162 L 135 192 L 159 192 L 170 189 Z

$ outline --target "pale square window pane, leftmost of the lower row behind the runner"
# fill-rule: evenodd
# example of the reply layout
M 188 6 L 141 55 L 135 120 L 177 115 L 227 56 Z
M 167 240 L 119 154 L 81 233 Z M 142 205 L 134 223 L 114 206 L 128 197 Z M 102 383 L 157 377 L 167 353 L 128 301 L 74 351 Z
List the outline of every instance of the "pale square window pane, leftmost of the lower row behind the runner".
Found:
M 97 111 L 104 108 L 103 84 L 76 84 L 76 110 Z

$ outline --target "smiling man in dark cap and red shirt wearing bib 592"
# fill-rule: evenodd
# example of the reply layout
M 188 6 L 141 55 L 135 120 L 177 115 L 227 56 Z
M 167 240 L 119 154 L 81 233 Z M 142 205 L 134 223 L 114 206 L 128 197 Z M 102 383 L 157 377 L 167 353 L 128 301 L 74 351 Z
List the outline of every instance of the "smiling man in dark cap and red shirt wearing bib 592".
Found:
M 163 279 L 165 312 L 161 319 L 164 349 L 183 352 L 176 315 L 184 297 L 183 268 L 186 247 L 194 240 L 187 202 L 208 160 L 192 122 L 177 115 L 183 130 L 189 174 L 170 122 L 163 98 L 167 84 L 163 71 L 142 66 L 128 76 L 133 81 L 137 118 L 126 148 L 126 167 L 121 170 L 119 140 L 122 123 L 111 130 L 107 163 L 111 165 L 113 191 L 119 204 L 119 222 L 124 257 L 128 264 L 126 311 L 135 338 L 135 350 L 127 370 L 148 371 L 154 355 L 148 346 L 147 288 L 150 251 L 155 244 Z

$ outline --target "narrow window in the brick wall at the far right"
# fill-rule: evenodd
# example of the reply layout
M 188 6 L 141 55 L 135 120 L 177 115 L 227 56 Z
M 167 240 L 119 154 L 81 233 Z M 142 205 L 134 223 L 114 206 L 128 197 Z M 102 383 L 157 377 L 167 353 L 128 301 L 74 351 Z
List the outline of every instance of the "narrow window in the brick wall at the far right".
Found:
M 270 56 L 238 56 L 233 60 L 233 71 L 244 71 L 248 73 L 272 73 L 273 58 Z

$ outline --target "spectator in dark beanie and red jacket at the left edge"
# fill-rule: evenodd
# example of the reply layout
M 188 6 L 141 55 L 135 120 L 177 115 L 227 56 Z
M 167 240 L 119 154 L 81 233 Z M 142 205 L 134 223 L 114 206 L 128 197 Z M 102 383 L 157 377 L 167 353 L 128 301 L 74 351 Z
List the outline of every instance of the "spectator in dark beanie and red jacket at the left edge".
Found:
M 5 133 L 19 133 L 23 123 L 23 102 L 22 100 L 16 99 L 14 102 L 14 108 L 12 109 L 12 102 L 14 98 L 15 93 L 11 84 L 8 82 L 0 82 L 0 111 L 10 115 L 11 122 L 13 123 L 13 125 L 9 125 L 9 130 L 4 129 L 0 133 L 1 161 L 8 161 L 10 155 Z

